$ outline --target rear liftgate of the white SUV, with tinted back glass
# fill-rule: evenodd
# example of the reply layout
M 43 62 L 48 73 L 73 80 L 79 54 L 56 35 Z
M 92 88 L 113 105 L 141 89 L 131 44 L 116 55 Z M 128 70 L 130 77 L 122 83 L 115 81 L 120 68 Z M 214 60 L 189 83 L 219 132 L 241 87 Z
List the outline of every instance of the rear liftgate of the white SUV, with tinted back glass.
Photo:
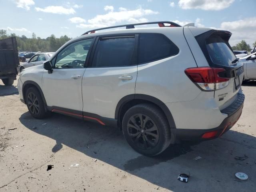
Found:
M 230 32 L 219 30 L 210 30 L 196 36 L 209 66 L 224 69 L 218 76 L 229 79 L 228 84 L 216 83 L 214 99 L 220 110 L 236 100 L 244 77 L 243 64 L 236 58 L 228 43 L 230 36 Z

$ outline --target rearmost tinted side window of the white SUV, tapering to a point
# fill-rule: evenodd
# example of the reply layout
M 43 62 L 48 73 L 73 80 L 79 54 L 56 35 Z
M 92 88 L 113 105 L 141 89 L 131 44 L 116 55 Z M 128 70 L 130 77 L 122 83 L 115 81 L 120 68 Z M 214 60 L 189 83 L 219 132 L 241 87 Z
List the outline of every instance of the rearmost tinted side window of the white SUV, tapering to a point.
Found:
M 178 47 L 163 34 L 140 34 L 139 63 L 178 54 Z

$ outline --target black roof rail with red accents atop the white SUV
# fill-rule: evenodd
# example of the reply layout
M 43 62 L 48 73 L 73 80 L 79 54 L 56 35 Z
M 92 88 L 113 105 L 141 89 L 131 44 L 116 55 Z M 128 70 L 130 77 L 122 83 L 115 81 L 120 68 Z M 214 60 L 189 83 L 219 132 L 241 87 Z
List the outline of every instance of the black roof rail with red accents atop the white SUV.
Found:
M 170 24 L 170 26 L 166 26 L 164 24 Z M 126 29 L 133 29 L 135 28 L 135 25 L 148 25 L 148 24 L 158 24 L 159 27 L 181 27 L 179 24 L 176 24 L 171 21 L 156 21 L 156 22 L 145 22 L 145 23 L 134 23 L 134 24 L 126 24 L 126 25 L 116 25 L 116 26 L 111 26 L 111 27 L 103 27 L 103 28 L 98 28 L 98 29 L 93 29 L 90 31 L 87 31 L 83 33 L 82 35 L 86 35 L 89 33 L 95 33 L 95 31 L 99 30 L 104 30 L 104 29 L 112 29 L 112 28 L 118 28 L 118 27 L 126 27 Z

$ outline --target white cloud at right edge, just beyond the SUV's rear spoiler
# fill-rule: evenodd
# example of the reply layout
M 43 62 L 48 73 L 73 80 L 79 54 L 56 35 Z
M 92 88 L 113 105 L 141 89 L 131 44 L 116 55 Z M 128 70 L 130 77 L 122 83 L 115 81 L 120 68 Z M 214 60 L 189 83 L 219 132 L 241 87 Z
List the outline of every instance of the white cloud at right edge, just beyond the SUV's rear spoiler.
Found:
M 221 30 L 228 30 L 232 32 L 230 38 L 230 45 L 235 45 L 241 40 L 245 40 L 252 46 L 256 40 L 256 17 L 240 19 L 232 22 L 222 22 L 220 24 Z

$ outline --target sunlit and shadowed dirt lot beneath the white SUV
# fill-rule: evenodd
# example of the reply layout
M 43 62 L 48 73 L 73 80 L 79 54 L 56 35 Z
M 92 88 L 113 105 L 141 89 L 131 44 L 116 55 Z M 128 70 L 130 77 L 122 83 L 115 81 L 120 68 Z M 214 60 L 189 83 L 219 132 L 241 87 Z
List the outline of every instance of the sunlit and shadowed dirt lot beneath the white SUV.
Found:
M 112 127 L 60 114 L 32 118 L 20 102 L 16 83 L 9 87 L 0 83 L 1 192 L 256 189 L 256 82 L 242 86 L 246 95 L 242 116 L 221 138 L 172 145 L 154 158 L 136 153 L 122 132 Z M 235 159 L 244 155 L 248 158 L 243 161 Z M 202 159 L 193 160 L 197 156 Z M 54 168 L 47 171 L 47 165 Z M 237 180 L 236 172 L 249 179 Z M 190 173 L 188 183 L 177 180 L 180 173 Z

